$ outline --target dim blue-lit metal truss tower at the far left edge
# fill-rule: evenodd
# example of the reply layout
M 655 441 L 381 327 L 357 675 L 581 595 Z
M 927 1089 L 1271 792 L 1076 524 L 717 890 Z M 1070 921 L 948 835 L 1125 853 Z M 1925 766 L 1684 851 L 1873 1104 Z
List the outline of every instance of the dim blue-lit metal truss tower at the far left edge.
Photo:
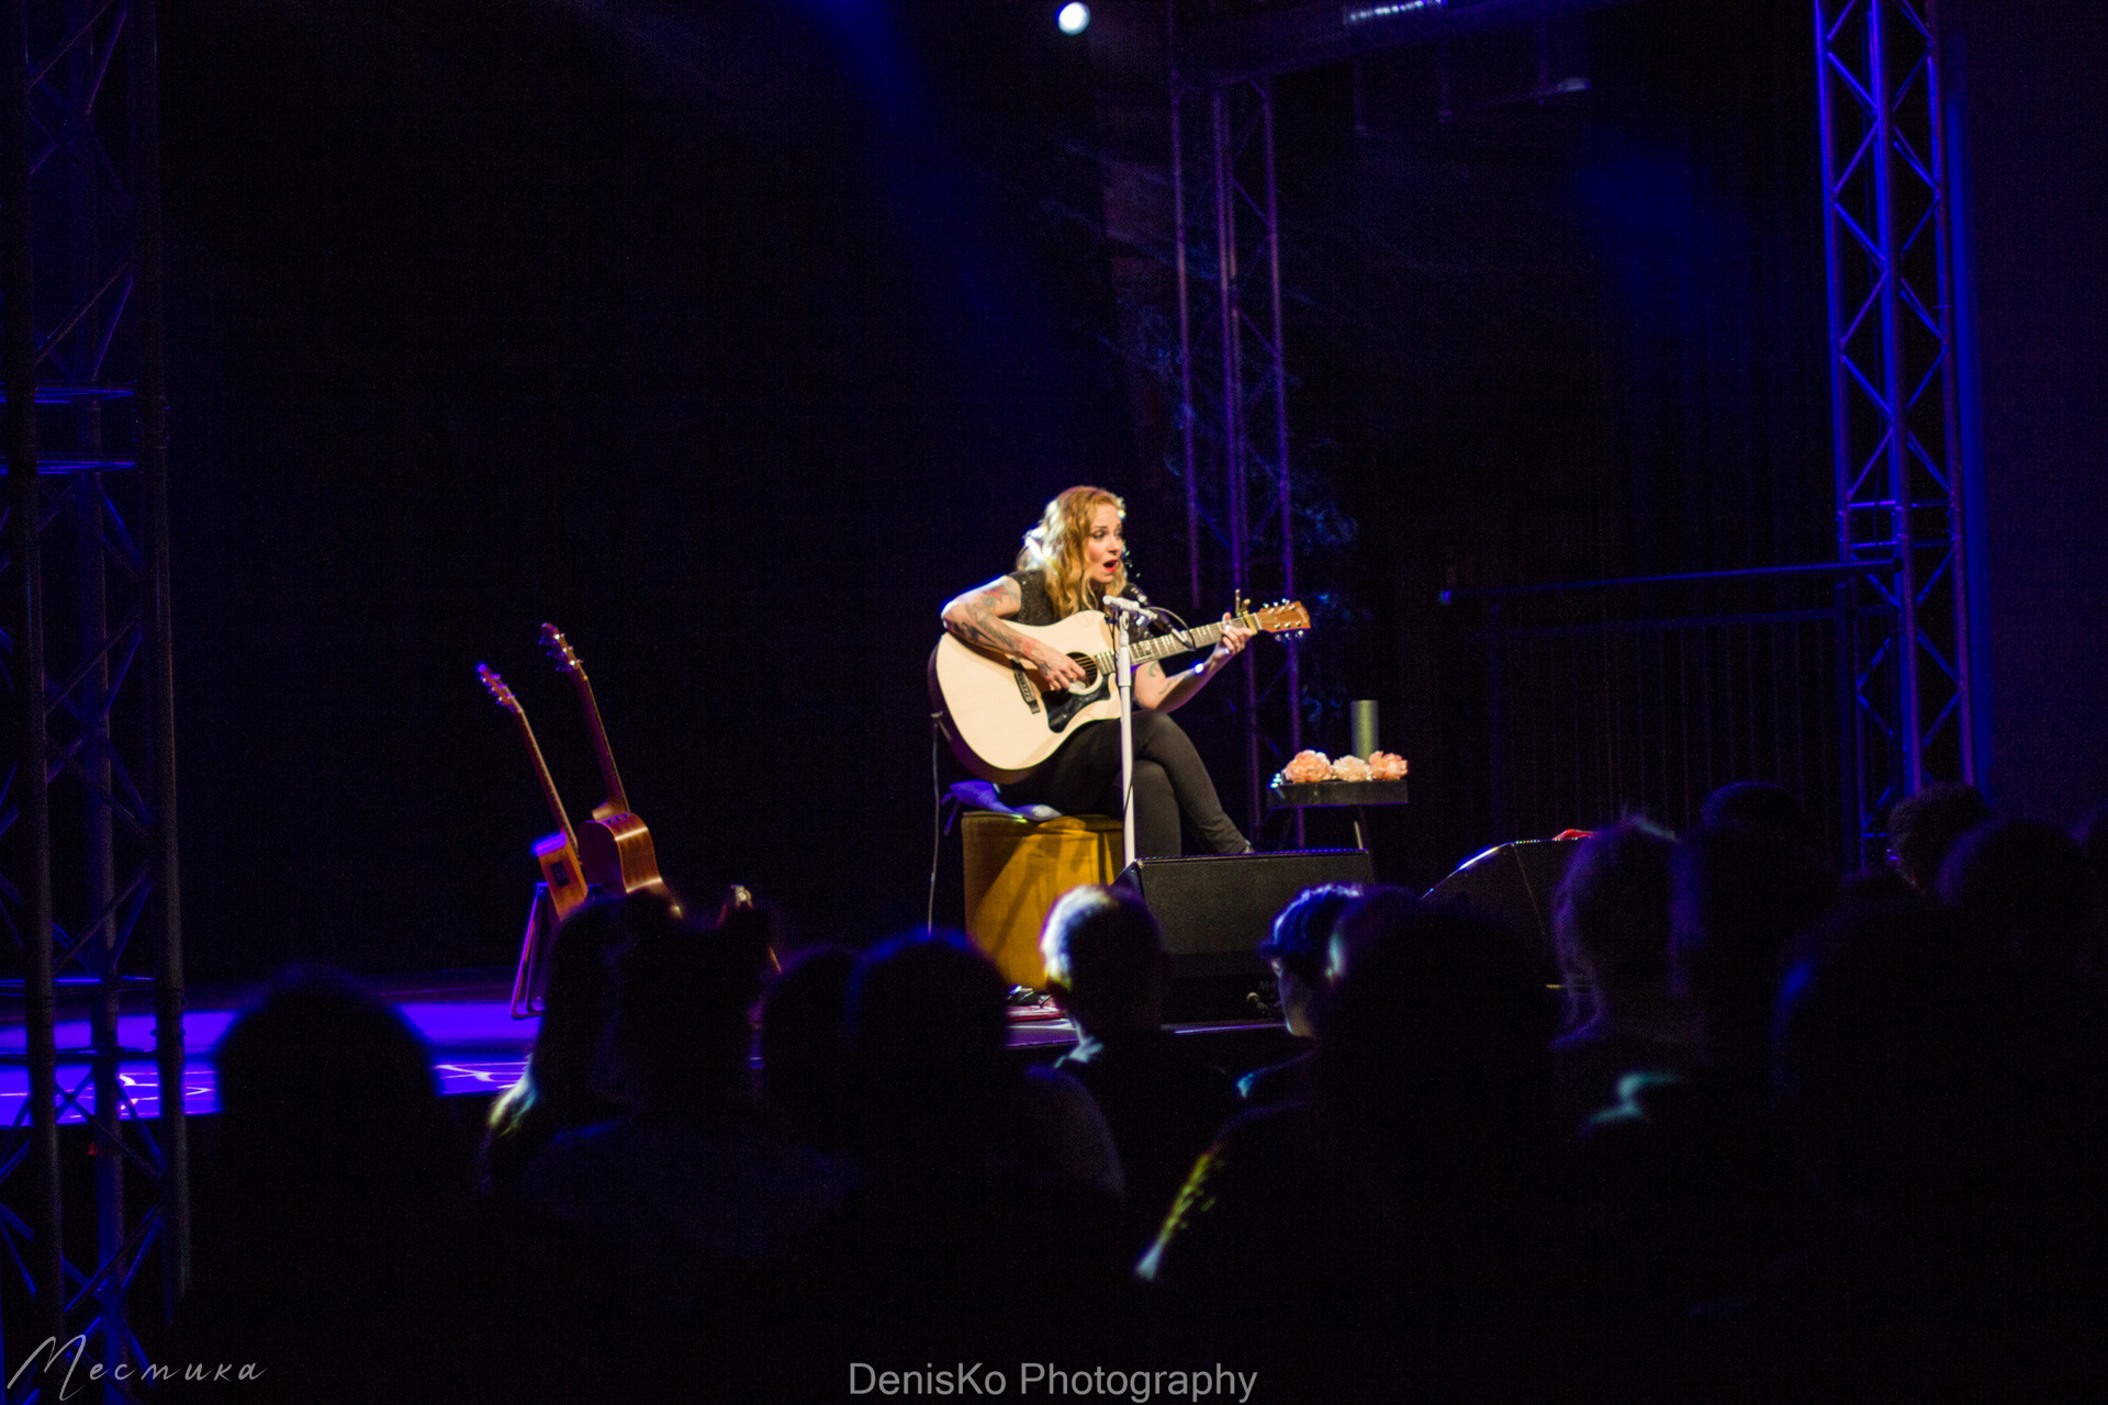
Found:
M 57 1338 L 82 1369 L 145 1357 L 126 1302 L 158 1251 L 160 1310 L 190 1266 L 183 982 L 169 664 L 167 392 L 154 0 L 13 0 L 0 57 L 0 345 L 13 706 L 0 927 L 25 1007 L 23 1112 L 0 1129 L 0 1241 L 30 1291 L 0 1380 Z M 152 990 L 156 1049 L 120 1041 Z M 86 1043 L 59 1047 L 59 998 Z M 67 1009 L 72 1015 L 74 1009 Z M 67 1026 L 80 1028 L 80 1024 Z M 158 1064 L 141 1114 L 126 1057 Z M 80 1114 L 82 1137 L 59 1121 Z M 84 1150 L 86 1163 L 74 1159 Z M 93 1243 L 61 1188 L 91 1186 Z M 6 1399 L 40 1388 L 21 1371 Z M 133 1399 L 110 1384 L 103 1399 Z

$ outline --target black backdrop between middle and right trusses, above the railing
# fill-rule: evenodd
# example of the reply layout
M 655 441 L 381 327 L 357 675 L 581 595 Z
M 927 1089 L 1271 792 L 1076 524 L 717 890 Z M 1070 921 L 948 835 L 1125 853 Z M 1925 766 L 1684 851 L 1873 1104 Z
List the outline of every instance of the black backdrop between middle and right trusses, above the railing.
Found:
M 1368 63 L 1362 137 L 1345 74 L 1284 93 L 1305 533 L 1353 522 L 1318 548 L 1349 607 L 1313 731 L 1343 750 L 1345 701 L 1383 699 L 1417 788 L 1379 845 L 1421 887 L 1533 838 L 1488 828 L 1482 617 L 1440 590 L 1834 554 L 1807 13 L 1600 11 L 1585 97 L 1484 107 L 1530 74 L 1507 48 L 1450 55 L 1450 122 L 1431 51 Z

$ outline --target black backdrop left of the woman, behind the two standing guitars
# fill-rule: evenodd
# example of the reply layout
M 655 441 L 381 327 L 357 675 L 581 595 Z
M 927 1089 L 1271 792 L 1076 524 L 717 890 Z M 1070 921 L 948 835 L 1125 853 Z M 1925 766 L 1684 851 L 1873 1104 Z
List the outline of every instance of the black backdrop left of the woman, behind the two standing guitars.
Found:
M 885 55 L 828 6 L 171 15 L 196 977 L 510 958 L 550 826 L 479 659 L 599 798 L 544 619 L 677 887 L 919 918 L 938 605 L 1128 472 L 1043 209 L 1088 86 L 1020 19 Z

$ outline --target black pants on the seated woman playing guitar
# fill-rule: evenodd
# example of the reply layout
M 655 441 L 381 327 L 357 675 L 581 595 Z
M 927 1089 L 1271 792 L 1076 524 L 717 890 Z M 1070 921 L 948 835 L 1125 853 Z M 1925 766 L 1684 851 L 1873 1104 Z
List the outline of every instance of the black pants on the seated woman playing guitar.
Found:
M 1043 767 L 1003 786 L 1008 805 L 1052 805 L 1065 815 L 1117 815 L 1119 723 L 1090 723 Z M 1145 857 L 1180 853 L 1178 815 L 1216 853 L 1250 849 L 1223 813 L 1208 767 L 1185 731 L 1164 712 L 1134 710 L 1134 851 Z

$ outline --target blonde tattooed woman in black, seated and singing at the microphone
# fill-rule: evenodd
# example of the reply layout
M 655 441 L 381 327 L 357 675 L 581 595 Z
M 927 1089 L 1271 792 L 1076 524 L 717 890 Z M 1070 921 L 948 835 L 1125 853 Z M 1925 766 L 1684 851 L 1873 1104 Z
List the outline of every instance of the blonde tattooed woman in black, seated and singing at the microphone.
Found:
M 1075 487 L 1048 503 L 1046 516 L 1024 533 L 1018 569 L 999 575 L 944 607 L 944 628 L 989 655 L 1016 659 L 1041 691 L 1086 682 L 1071 655 L 1012 630 L 1008 619 L 1048 626 L 1128 586 L 1128 506 L 1105 489 Z M 1134 849 L 1149 857 L 1176 855 L 1178 817 L 1216 853 L 1246 853 L 1250 845 L 1216 800 L 1214 781 L 1193 741 L 1168 714 L 1187 704 L 1223 670 L 1252 632 L 1223 621 L 1223 638 L 1206 659 L 1176 674 L 1151 659 L 1134 670 Z M 1117 815 L 1119 723 L 1086 723 L 1037 771 L 1003 786 L 1010 805 L 1050 805 L 1065 815 Z

